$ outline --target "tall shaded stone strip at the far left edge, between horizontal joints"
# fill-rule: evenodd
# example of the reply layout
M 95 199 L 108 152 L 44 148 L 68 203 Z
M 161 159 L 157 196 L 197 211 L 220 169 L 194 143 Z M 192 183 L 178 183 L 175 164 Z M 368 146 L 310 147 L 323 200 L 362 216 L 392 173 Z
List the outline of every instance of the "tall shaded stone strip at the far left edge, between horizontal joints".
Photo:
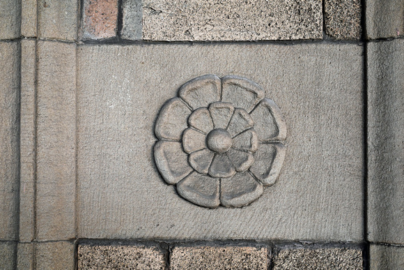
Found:
M 0 42 L 0 240 L 18 237 L 20 44 Z

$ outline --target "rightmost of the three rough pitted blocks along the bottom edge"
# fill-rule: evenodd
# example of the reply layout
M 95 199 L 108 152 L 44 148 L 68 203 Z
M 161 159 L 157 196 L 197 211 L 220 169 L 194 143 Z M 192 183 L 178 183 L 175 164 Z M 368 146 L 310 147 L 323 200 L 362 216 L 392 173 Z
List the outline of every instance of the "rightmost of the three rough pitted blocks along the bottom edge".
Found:
M 291 248 L 273 259 L 278 269 L 363 269 L 362 250 L 357 248 Z

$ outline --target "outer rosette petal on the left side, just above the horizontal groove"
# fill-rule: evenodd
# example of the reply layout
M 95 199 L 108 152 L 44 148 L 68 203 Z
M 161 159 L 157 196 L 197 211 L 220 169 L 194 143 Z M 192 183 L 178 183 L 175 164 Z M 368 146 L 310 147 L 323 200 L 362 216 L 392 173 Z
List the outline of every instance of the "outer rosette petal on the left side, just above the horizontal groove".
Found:
M 155 134 L 159 139 L 181 140 L 182 130 L 187 128 L 187 119 L 191 110 L 180 98 L 171 98 L 160 110 L 155 125 Z

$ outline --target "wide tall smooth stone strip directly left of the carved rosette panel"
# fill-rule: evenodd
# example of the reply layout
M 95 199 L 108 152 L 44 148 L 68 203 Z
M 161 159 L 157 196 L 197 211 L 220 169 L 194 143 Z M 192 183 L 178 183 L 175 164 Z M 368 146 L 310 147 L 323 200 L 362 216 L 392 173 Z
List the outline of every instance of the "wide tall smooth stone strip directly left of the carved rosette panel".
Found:
M 38 42 L 36 228 L 75 237 L 76 45 Z

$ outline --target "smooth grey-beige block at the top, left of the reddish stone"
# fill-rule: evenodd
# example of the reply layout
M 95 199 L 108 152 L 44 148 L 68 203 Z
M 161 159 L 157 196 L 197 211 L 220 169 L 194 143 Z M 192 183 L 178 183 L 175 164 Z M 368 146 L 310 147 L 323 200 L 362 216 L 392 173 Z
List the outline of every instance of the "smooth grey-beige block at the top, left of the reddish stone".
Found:
M 77 0 L 38 0 L 40 38 L 77 39 Z

